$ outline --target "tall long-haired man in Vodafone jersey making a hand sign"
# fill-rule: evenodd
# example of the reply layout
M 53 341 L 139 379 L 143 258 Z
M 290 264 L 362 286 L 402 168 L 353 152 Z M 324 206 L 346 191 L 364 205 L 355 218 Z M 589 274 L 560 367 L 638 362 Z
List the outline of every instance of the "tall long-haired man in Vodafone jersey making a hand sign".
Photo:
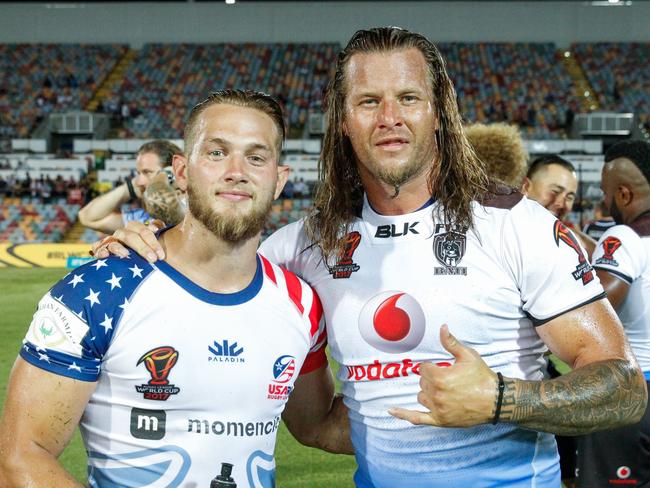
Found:
M 543 432 L 635 422 L 647 402 L 580 246 L 539 205 L 488 190 L 423 36 L 357 32 L 327 107 L 316 212 L 262 252 L 323 300 L 356 484 L 558 486 Z M 140 232 L 116 235 L 162 253 Z M 574 371 L 541 381 L 545 345 Z

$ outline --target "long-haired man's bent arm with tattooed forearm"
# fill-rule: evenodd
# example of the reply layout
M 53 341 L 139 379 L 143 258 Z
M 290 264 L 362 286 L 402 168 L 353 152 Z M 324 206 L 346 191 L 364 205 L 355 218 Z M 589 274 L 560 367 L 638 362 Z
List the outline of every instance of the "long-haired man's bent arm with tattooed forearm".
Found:
M 580 435 L 641 418 L 647 402 L 643 374 L 605 300 L 566 313 L 538 332 L 573 371 L 545 381 L 506 378 L 503 421 Z

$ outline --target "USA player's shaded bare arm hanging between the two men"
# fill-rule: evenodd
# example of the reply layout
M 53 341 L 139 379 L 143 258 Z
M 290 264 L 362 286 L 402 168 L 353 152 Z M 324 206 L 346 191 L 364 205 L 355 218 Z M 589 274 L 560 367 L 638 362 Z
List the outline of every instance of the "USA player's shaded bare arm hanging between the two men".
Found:
M 334 395 L 329 366 L 300 376 L 282 413 L 289 432 L 309 447 L 336 454 L 354 454 L 348 410 Z

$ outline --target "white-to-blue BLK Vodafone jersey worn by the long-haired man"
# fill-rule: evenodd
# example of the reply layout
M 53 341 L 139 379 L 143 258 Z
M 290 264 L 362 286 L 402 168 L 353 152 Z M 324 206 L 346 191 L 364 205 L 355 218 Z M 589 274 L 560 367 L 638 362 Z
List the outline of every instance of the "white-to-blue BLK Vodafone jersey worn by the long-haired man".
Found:
M 450 363 L 444 323 L 505 376 L 539 380 L 546 347 L 536 325 L 603 297 L 577 240 L 519 193 L 475 205 L 476 228 L 449 229 L 432 213 L 383 216 L 367 201 L 345 252 L 323 263 L 303 222 L 261 252 L 309 282 L 341 364 L 359 487 L 560 486 L 554 437 L 512 424 L 414 426 L 388 414 L 422 410 L 418 369 Z

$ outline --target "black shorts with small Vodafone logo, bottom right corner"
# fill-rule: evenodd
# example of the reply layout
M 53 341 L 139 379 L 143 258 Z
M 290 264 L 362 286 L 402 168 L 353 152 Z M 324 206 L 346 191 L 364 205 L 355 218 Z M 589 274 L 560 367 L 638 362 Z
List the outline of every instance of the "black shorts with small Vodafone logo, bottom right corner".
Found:
M 650 388 L 650 381 L 647 383 Z M 650 408 L 637 424 L 576 440 L 579 488 L 650 487 Z

